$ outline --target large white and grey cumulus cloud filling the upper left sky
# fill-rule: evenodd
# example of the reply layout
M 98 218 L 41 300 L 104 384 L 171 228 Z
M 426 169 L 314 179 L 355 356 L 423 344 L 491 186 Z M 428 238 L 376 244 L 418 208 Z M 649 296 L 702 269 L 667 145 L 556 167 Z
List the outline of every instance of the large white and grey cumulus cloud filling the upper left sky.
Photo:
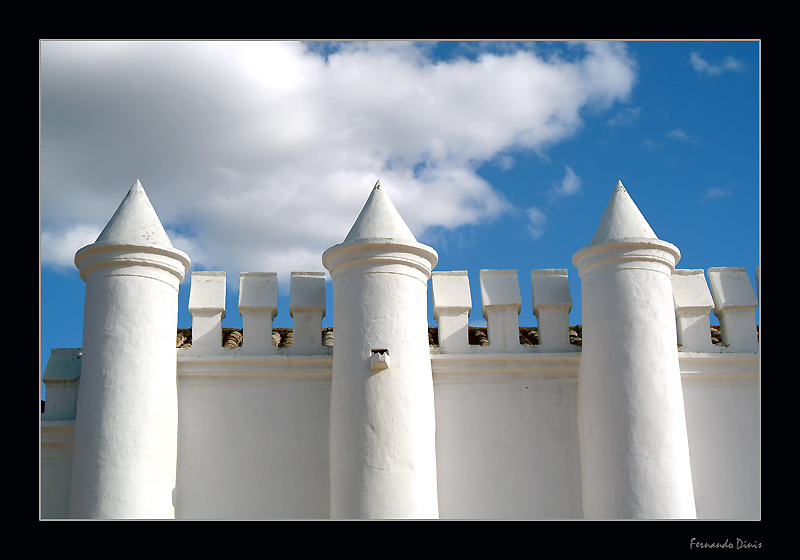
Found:
M 482 163 L 564 141 L 635 81 L 619 43 L 433 47 L 43 42 L 42 264 L 71 264 L 136 179 L 193 266 L 229 274 L 321 270 L 377 179 L 418 238 L 480 224 L 512 210 Z

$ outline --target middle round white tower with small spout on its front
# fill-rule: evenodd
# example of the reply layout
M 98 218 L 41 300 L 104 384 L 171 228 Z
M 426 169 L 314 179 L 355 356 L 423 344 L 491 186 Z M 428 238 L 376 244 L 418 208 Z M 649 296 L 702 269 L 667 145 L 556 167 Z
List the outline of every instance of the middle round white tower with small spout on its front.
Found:
M 343 243 L 333 279 L 332 518 L 437 518 L 427 281 L 418 243 L 380 182 Z

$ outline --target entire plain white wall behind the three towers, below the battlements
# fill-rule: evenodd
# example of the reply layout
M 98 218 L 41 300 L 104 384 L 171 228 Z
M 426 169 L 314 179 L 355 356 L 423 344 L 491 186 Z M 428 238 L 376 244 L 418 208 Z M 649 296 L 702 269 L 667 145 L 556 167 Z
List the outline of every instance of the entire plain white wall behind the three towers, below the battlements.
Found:
M 328 517 L 332 357 L 288 350 L 178 350 L 176 517 Z M 582 517 L 579 362 L 579 352 L 432 352 L 441 518 Z M 681 355 L 698 518 L 760 518 L 758 367 L 755 353 Z M 55 393 L 48 385 L 48 402 Z M 68 510 L 72 425 L 42 419 L 43 518 Z

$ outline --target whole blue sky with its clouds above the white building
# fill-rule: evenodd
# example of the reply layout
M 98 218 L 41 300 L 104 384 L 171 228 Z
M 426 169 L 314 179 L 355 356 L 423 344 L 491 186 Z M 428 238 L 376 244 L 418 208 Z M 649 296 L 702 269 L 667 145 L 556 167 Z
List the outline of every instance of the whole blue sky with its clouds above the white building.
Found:
M 566 268 L 621 180 L 680 268 L 760 263 L 760 43 L 40 43 L 40 375 L 139 179 L 194 270 L 324 271 L 380 179 L 437 270 Z M 190 327 L 189 277 L 179 326 Z M 329 290 L 330 292 L 330 290 Z M 324 325 L 332 325 L 329 303 Z M 716 322 L 712 317 L 712 322 Z M 431 325 L 435 325 L 431 319 Z

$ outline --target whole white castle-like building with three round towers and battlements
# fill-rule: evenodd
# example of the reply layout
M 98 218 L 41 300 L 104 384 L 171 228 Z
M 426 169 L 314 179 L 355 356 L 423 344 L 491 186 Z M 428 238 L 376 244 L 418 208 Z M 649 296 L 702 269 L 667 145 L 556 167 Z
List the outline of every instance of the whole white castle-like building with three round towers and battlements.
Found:
M 195 272 L 179 330 L 190 259 L 137 182 L 76 254 L 84 347 L 44 374 L 41 517 L 759 519 L 755 291 L 679 258 L 618 184 L 573 257 L 582 328 L 559 269 L 530 273 L 536 328 L 517 271 L 481 271 L 475 329 L 466 272 L 434 271 L 377 184 L 322 256 L 332 310 L 323 272 L 293 273 L 273 329 L 277 276 L 242 273 L 224 329 L 228 279 Z

